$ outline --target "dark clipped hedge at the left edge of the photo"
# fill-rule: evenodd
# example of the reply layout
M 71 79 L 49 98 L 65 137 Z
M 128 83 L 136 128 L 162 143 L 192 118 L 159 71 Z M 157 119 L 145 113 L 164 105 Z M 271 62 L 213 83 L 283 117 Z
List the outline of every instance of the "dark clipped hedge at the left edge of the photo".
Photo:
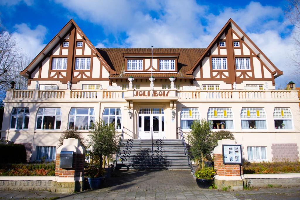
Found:
M 0 163 L 26 163 L 27 155 L 24 145 L 0 145 Z

